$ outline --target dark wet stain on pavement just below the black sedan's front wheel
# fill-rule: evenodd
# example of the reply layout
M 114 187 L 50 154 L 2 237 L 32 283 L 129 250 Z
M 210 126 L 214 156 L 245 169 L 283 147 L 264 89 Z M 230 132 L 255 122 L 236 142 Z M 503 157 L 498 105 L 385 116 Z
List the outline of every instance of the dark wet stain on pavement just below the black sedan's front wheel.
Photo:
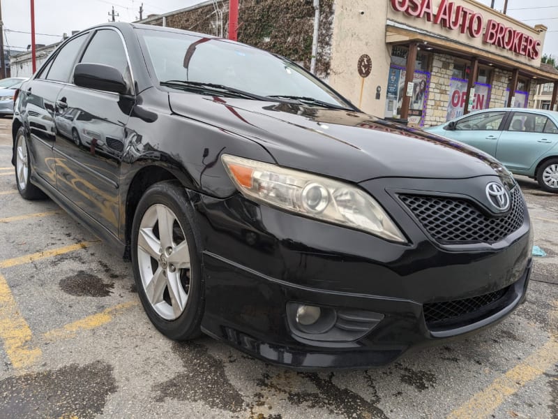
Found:
M 185 371 L 169 381 L 154 386 L 157 402 L 168 397 L 187 402 L 204 402 L 210 407 L 231 412 L 243 411 L 241 394 L 229 383 L 223 361 L 210 355 L 206 346 L 194 342 L 174 342 L 172 351 L 179 355 Z

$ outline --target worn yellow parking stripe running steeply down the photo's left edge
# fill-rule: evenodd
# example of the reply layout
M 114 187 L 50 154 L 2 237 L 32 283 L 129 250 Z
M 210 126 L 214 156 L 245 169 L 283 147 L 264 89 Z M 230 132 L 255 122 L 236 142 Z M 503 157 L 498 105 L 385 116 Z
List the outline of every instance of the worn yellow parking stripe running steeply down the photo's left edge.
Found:
M 0 338 L 13 367 L 32 365 L 40 358 L 39 348 L 29 344 L 31 329 L 17 309 L 6 279 L 0 274 Z

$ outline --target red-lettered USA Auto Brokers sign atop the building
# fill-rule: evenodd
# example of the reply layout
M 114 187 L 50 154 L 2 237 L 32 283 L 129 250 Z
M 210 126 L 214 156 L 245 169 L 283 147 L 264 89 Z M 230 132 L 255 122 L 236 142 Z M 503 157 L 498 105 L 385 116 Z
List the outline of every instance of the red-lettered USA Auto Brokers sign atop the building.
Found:
M 391 0 L 391 7 L 417 19 L 426 18 L 428 22 L 453 31 L 459 29 L 461 34 L 467 33 L 473 38 L 482 36 L 484 43 L 525 55 L 529 59 L 541 56 L 541 41 L 493 19 L 489 19 L 485 25 L 481 13 L 457 6 L 452 1 L 442 0 L 437 10 L 433 8 L 432 0 Z

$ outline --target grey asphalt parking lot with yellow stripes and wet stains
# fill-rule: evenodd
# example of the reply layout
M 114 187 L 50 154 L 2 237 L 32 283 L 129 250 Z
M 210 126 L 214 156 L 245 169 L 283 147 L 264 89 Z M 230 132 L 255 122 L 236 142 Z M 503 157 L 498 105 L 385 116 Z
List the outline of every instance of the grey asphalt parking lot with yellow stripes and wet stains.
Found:
M 0 418 L 558 419 L 558 196 L 531 179 L 518 181 L 546 256 L 512 316 L 388 367 L 300 373 L 160 335 L 121 255 L 51 200 L 19 196 L 10 126 L 0 119 Z

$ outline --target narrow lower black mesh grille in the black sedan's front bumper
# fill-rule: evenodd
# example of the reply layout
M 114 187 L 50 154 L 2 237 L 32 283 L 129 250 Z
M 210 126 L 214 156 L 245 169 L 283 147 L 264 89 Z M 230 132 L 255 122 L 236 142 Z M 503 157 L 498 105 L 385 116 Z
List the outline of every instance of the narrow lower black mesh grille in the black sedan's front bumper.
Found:
M 475 311 L 480 311 L 489 304 L 497 302 L 500 298 L 504 297 L 509 288 L 508 286 L 493 293 L 479 295 L 478 297 L 467 298 L 465 300 L 423 304 L 426 325 L 431 326 L 432 323 L 451 321 L 452 319 L 458 319 L 467 314 L 473 314 Z

